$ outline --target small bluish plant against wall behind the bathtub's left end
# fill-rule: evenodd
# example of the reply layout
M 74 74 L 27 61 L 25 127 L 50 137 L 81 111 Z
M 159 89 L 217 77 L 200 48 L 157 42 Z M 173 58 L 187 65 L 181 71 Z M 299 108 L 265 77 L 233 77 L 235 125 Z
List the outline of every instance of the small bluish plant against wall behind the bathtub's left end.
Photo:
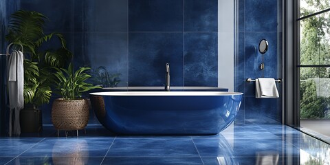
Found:
M 92 82 L 100 87 L 117 87 L 121 74 L 109 74 L 107 68 L 100 66 L 91 70 Z

